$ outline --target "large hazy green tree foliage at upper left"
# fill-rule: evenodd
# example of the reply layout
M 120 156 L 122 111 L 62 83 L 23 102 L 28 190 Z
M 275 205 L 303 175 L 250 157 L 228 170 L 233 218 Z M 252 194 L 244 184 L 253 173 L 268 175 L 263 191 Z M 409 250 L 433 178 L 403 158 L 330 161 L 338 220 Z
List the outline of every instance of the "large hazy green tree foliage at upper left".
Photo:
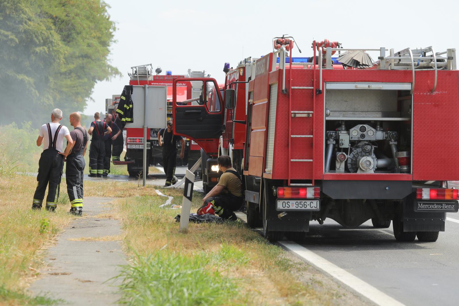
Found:
M 83 111 L 108 61 L 115 24 L 101 0 L 0 0 L 1 124 Z

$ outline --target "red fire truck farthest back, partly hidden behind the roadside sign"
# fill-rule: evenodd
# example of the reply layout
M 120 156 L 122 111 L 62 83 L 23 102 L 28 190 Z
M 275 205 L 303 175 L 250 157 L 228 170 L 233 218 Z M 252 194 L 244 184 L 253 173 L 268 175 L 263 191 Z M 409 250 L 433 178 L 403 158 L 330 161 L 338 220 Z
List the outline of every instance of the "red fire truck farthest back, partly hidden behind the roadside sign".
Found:
M 160 75 L 162 69 L 156 68 L 156 75 L 153 73 L 153 67 L 149 65 L 141 65 L 131 67 L 132 73 L 129 73 L 130 81 L 129 85 L 145 85 L 149 86 L 167 86 L 167 101 L 165 101 L 165 107 L 167 105 L 168 118 L 172 117 L 172 81 L 174 78 L 190 78 L 190 77 L 209 77 L 205 71 L 191 71 L 188 70 L 187 74 L 184 75 L 172 75 L 171 71 L 167 71 L 166 75 Z M 196 90 L 195 90 L 196 92 Z M 177 97 L 178 101 L 192 99 L 193 95 L 193 84 L 190 82 L 177 83 Z M 167 103 L 167 104 L 166 104 Z M 156 165 L 162 163 L 162 148 L 158 144 L 158 133 L 159 129 L 149 128 L 147 131 L 147 165 Z M 125 161 L 114 161 L 116 164 L 127 164 L 128 172 L 130 176 L 138 176 L 143 169 L 143 129 L 142 128 L 126 128 L 126 156 Z M 177 158 L 178 164 L 188 163 L 189 167 L 192 167 L 196 161 L 201 157 L 201 148 L 199 145 L 192 144 L 190 139 L 185 141 L 185 158 L 183 161 L 179 159 L 180 150 L 178 150 Z M 180 146 L 180 144 L 179 144 Z M 197 173 L 200 175 L 201 169 L 198 169 Z M 148 167 L 147 173 L 148 174 Z

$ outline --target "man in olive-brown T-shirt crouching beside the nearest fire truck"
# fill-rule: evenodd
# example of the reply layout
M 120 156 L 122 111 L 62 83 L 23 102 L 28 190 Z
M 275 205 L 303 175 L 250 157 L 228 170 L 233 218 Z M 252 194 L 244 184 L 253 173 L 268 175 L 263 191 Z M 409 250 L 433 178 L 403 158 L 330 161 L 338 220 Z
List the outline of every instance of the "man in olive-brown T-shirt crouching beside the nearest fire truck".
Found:
M 223 174 L 218 184 L 202 199 L 198 215 L 211 213 L 228 220 L 237 220 L 234 211 L 244 204 L 242 197 L 241 176 L 231 165 L 231 157 L 222 155 L 217 160 L 218 168 Z

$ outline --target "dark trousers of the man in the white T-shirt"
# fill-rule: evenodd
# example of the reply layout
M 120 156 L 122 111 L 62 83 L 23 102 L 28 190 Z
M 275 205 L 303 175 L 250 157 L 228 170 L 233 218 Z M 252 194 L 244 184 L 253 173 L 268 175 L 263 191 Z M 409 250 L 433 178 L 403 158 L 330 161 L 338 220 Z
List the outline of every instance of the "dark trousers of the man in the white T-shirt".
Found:
M 38 162 L 37 189 L 35 189 L 32 208 L 41 208 L 45 198 L 46 187 L 46 209 L 54 210 L 59 198 L 59 184 L 61 184 L 62 169 L 64 167 L 64 156 L 54 148 L 43 151 Z

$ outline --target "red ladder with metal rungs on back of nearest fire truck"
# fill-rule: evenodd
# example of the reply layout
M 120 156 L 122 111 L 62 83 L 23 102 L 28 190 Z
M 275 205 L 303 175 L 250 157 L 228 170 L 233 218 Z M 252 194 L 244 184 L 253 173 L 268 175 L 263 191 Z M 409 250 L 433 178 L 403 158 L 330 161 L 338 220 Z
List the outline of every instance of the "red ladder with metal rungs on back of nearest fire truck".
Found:
M 291 50 L 290 48 L 290 69 L 289 69 L 289 120 L 288 120 L 288 186 L 314 186 L 314 128 L 315 128 L 315 96 L 317 94 L 316 92 L 316 41 L 313 41 L 313 50 L 314 50 L 314 57 L 313 57 L 313 63 L 312 63 L 312 68 L 313 68 L 313 86 L 312 87 L 305 87 L 305 86 L 292 86 L 292 79 L 291 79 L 291 62 L 292 62 L 292 56 L 291 56 Z M 319 65 L 322 65 L 322 52 L 319 52 Z M 285 69 L 285 64 L 284 64 L 284 69 Z M 321 80 L 320 80 L 321 81 Z M 284 78 L 285 82 L 285 78 Z M 292 111 L 291 110 L 291 94 L 292 90 L 312 90 L 313 91 L 313 109 L 312 111 Z M 312 124 L 312 134 L 311 135 L 292 135 L 291 134 L 291 118 L 292 117 L 307 117 L 313 119 L 313 124 Z M 292 138 L 311 138 L 312 140 L 312 159 L 291 159 L 291 139 Z M 291 163 L 292 162 L 311 162 L 312 163 L 312 183 L 311 184 L 296 184 L 296 183 L 291 183 Z

